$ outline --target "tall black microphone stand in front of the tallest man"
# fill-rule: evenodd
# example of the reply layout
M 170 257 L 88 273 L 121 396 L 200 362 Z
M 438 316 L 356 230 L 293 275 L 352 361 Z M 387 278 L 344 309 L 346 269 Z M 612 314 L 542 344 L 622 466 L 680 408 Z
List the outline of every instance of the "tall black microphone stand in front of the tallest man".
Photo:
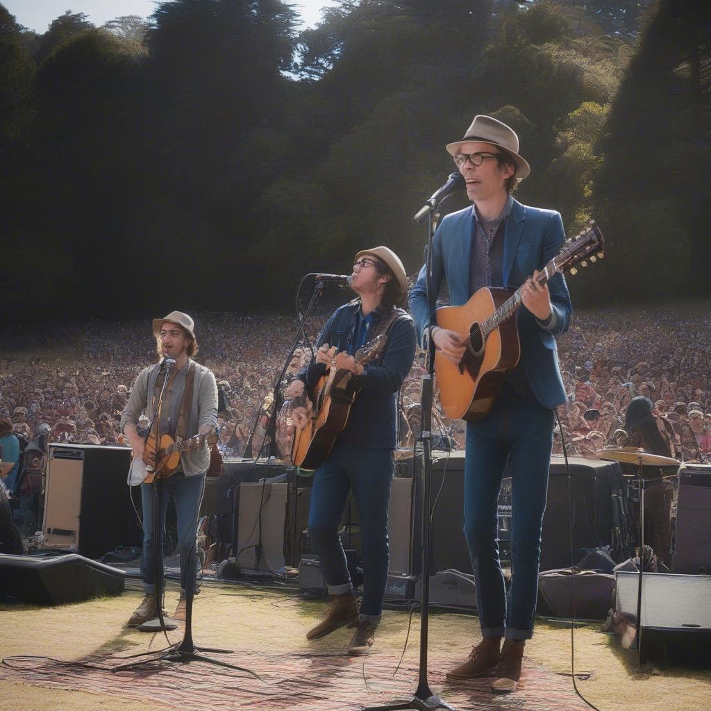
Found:
M 429 311 L 434 310 L 437 301 L 437 294 L 432 292 L 432 239 L 434 230 L 437 229 L 439 220 L 439 203 L 429 204 L 427 210 L 427 304 Z M 432 201 L 434 202 L 434 201 Z M 422 210 L 415 215 L 418 222 L 424 218 Z M 432 711 L 434 709 L 445 709 L 454 711 L 454 707 L 442 701 L 436 694 L 432 693 L 427 681 L 427 636 L 429 631 L 429 553 L 432 542 L 432 521 L 430 520 L 430 499 L 432 498 L 432 403 L 434 400 L 434 349 L 431 338 L 432 326 L 427 328 L 427 373 L 422 376 L 422 422 L 419 439 L 422 440 L 424 450 L 422 466 L 422 501 L 420 502 L 420 545 L 421 545 L 421 569 L 420 569 L 420 589 L 422 590 L 419 609 L 419 680 L 415 694 L 406 700 L 397 700 L 385 706 L 370 706 L 363 711 L 398 711 L 405 709 L 415 709 L 417 711 Z M 415 468 L 417 471 L 417 468 Z

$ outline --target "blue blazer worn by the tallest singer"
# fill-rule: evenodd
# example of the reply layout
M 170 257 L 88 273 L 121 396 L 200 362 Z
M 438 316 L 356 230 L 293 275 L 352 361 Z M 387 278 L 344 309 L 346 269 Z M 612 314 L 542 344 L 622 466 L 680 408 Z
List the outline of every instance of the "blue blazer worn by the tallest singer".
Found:
M 474 205 L 447 215 L 434 233 L 432 243 L 432 289 L 439 294 L 442 282 L 449 285 L 449 303 L 461 306 L 469 300 L 471 245 L 474 235 Z M 513 201 L 503 234 L 503 283 L 510 289 L 520 287 L 534 269 L 542 269 L 552 260 L 565 241 L 563 222 L 555 210 L 542 210 Z M 434 324 L 434 310 L 427 303 L 426 264 L 410 292 L 410 311 L 422 342 L 425 329 Z M 555 338 L 570 325 L 572 304 L 562 274 L 548 282 L 553 311 L 552 322 L 545 328 L 523 304 L 518 311 L 521 363 L 528 383 L 544 407 L 566 401 L 560 377 Z M 433 299 L 434 300 L 434 299 Z

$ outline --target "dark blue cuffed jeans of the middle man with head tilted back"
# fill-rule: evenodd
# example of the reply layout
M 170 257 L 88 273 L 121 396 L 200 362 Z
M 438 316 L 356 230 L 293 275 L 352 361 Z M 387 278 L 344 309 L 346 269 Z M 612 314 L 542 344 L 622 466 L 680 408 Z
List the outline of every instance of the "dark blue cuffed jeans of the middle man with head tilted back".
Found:
M 338 522 L 348 491 L 358 506 L 363 541 L 363 600 L 360 619 L 375 622 L 383 611 L 387 585 L 387 503 L 392 482 L 392 449 L 353 447 L 336 442 L 328 459 L 314 474 L 309 509 L 309 531 L 321 560 L 329 594 L 353 589 L 346 555 L 338 538 Z

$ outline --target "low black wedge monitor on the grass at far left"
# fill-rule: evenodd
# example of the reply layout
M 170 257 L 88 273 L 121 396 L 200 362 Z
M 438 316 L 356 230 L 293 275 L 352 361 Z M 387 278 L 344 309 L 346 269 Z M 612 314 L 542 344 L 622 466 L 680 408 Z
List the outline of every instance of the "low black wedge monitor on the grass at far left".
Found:
M 81 602 L 92 597 L 120 595 L 123 570 L 81 555 L 0 555 L 0 597 L 37 605 Z

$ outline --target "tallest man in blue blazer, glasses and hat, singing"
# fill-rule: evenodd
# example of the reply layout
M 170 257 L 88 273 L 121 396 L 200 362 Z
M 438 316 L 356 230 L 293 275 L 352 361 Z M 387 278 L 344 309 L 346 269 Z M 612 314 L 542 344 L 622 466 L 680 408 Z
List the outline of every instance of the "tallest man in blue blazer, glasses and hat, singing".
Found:
M 511 192 L 530 168 L 518 154 L 518 136 L 506 124 L 476 116 L 464 139 L 447 151 L 474 203 L 447 215 L 432 245 L 432 299 L 425 269 L 410 294 L 420 338 L 428 335 L 442 355 L 459 363 L 459 334 L 435 326 L 434 300 L 447 281 L 452 306 L 481 287 L 518 288 L 521 357 L 506 373 L 488 415 L 466 426 L 464 535 L 476 578 L 482 641 L 450 679 L 493 672 L 493 690 L 513 691 L 520 678 L 525 640 L 533 634 L 538 593 L 540 533 L 552 449 L 553 410 L 565 402 L 555 338 L 570 324 L 572 306 L 562 274 L 547 285 L 531 278 L 560 251 L 565 240 L 560 214 L 521 205 Z M 513 580 L 507 607 L 498 555 L 497 502 L 507 462 L 512 475 Z M 504 639 L 501 648 L 501 639 Z

